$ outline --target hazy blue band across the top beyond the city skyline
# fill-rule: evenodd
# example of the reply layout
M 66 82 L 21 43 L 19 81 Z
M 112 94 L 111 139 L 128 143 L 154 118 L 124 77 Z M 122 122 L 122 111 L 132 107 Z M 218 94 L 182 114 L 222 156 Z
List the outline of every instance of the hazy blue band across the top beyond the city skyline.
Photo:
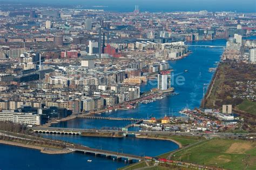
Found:
M 109 6 L 105 10 L 130 11 L 140 5 L 142 11 L 238 11 L 256 12 L 256 0 L 0 0 L 44 4 L 81 4 Z

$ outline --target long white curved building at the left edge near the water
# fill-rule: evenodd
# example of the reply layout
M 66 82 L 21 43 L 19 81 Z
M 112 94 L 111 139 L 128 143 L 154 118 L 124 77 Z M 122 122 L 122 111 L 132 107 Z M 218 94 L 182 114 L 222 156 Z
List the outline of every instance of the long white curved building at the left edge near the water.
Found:
M 41 116 L 38 114 L 6 110 L 0 112 L 0 121 L 11 121 L 16 124 L 25 125 L 41 125 Z

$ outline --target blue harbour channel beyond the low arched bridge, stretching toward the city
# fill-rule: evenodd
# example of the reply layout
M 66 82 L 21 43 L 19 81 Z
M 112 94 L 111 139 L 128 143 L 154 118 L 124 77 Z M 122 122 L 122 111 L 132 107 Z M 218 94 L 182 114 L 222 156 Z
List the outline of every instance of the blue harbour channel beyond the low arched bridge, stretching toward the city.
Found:
M 188 45 L 215 45 L 225 46 L 225 39 L 218 39 L 212 41 L 202 41 L 188 43 Z M 163 118 L 164 115 L 180 116 L 179 111 L 186 107 L 199 107 L 201 99 L 203 98 L 203 88 L 205 91 L 209 84 L 213 72 L 209 72 L 210 67 L 216 67 L 216 62 L 220 60 L 223 53 L 223 47 L 199 47 L 191 46 L 189 48 L 193 53 L 188 57 L 170 61 L 169 64 L 173 68 L 172 72 L 172 86 L 175 92 L 179 93 L 176 96 L 167 96 L 164 99 L 154 101 L 149 104 L 139 104 L 139 106 L 132 110 L 118 110 L 110 113 L 102 113 L 102 117 L 121 117 L 121 118 L 143 118 L 148 117 Z M 188 70 L 184 72 L 184 70 Z M 183 79 L 184 81 L 179 81 Z M 150 80 L 141 86 L 141 91 L 149 91 L 157 87 L 157 80 Z M 73 119 L 66 122 L 53 124 L 53 127 L 70 127 L 70 128 L 120 128 L 131 121 L 109 121 L 98 119 Z M 130 128 L 129 130 L 136 130 Z

